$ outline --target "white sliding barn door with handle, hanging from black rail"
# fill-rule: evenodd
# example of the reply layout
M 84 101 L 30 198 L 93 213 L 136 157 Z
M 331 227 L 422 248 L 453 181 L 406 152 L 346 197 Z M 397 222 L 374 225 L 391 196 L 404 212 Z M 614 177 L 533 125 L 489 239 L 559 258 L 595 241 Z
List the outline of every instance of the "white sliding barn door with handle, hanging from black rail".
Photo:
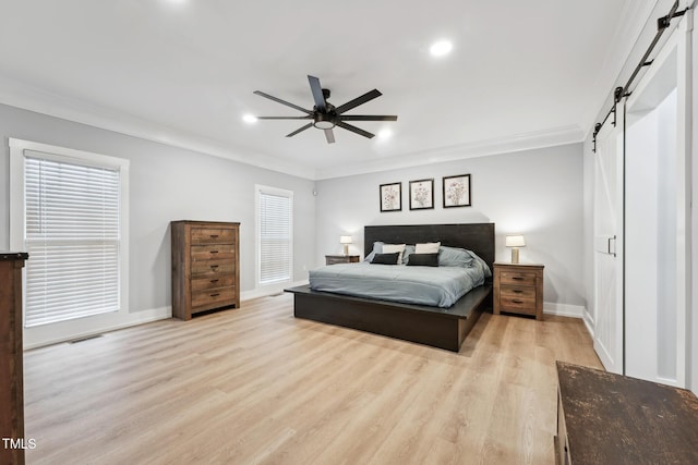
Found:
M 597 134 L 594 154 L 594 341 L 609 371 L 623 374 L 623 106 Z

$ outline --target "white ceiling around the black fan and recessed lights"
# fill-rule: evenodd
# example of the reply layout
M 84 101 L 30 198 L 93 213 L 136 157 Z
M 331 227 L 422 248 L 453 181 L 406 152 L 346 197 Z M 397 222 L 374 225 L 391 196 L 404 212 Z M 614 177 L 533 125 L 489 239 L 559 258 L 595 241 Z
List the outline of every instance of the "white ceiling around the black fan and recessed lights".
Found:
M 310 179 L 583 139 L 651 0 L 0 0 L 0 101 Z M 642 17 L 645 16 L 645 17 Z M 434 59 L 430 45 L 450 39 Z M 358 122 L 286 134 L 308 74 Z M 349 113 L 348 113 L 349 114 Z

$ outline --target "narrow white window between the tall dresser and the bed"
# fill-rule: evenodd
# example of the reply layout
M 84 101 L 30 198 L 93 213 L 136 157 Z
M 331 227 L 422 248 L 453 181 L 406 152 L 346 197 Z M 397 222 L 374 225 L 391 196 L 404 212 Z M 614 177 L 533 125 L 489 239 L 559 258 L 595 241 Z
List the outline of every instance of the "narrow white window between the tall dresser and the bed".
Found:
M 291 280 L 293 193 L 256 186 L 260 285 Z

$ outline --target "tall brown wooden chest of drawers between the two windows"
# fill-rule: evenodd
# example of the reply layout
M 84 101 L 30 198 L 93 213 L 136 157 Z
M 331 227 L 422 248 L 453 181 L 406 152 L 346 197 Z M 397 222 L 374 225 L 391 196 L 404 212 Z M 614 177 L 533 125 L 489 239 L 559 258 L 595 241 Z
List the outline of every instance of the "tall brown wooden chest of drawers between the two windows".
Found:
M 172 316 L 240 308 L 240 223 L 172 221 Z

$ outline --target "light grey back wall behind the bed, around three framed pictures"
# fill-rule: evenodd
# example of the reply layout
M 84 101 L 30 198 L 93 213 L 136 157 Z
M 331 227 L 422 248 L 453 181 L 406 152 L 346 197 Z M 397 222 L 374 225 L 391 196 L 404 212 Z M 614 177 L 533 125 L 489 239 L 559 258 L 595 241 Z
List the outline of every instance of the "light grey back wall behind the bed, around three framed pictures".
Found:
M 442 176 L 468 173 L 472 206 L 444 209 Z M 409 181 L 429 178 L 434 179 L 435 208 L 410 211 Z M 402 210 L 381 212 L 378 186 L 393 182 L 402 182 Z M 344 234 L 353 235 L 350 252 L 362 255 L 366 224 L 494 222 L 496 259 L 510 260 L 505 234 L 522 233 L 521 261 L 545 265 L 546 311 L 581 316 L 581 144 L 324 180 L 316 188 L 315 265 L 324 262 L 325 254 L 341 252 Z

